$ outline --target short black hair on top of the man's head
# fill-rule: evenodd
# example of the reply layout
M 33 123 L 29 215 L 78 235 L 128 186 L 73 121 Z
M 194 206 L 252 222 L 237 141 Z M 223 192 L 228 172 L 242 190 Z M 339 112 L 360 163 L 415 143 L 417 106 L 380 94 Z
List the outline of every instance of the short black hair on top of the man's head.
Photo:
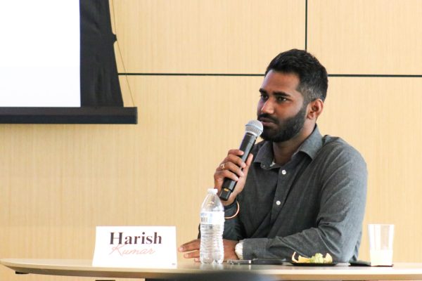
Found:
M 297 74 L 298 91 L 302 93 L 304 103 L 308 104 L 317 98 L 325 100 L 328 88 L 328 75 L 325 67 L 307 51 L 292 49 L 279 53 L 269 63 L 265 75 L 270 70 Z

